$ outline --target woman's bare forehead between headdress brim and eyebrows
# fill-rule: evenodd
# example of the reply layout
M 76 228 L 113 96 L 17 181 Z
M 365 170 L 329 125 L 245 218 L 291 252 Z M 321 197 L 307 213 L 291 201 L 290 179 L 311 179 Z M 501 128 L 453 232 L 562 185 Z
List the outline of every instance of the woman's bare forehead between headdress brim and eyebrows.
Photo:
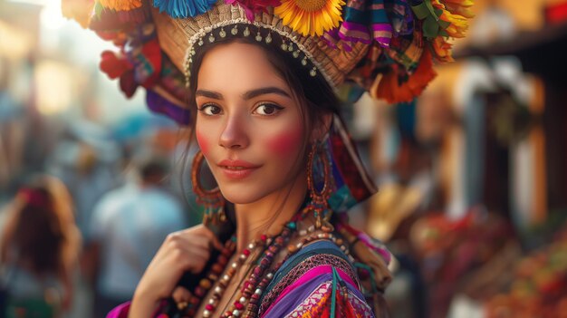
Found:
M 247 43 L 219 44 L 203 57 L 197 88 L 244 92 L 259 86 L 288 85 L 269 62 L 266 52 Z

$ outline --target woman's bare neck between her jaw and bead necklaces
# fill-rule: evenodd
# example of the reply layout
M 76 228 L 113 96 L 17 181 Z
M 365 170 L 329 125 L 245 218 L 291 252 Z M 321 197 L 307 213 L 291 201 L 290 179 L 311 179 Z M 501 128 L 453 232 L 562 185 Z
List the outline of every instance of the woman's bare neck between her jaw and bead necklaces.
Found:
M 307 192 L 307 177 L 300 173 L 278 191 L 258 201 L 235 205 L 237 251 L 242 251 L 253 239 L 281 232 L 302 206 Z

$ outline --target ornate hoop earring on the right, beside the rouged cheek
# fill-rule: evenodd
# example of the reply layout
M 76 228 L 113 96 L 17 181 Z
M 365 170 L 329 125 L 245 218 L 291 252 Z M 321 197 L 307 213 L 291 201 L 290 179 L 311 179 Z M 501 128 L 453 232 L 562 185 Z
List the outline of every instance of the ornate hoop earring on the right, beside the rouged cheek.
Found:
M 329 208 L 329 198 L 332 193 L 332 167 L 331 160 L 324 150 L 322 142 L 314 142 L 307 159 L 307 188 L 309 189 L 310 203 L 305 212 L 313 212 L 315 227 L 323 231 L 332 232 L 333 226 L 329 222 L 332 211 Z M 315 169 L 316 160 L 320 160 L 320 168 Z M 316 178 L 322 178 L 322 188 L 317 189 Z

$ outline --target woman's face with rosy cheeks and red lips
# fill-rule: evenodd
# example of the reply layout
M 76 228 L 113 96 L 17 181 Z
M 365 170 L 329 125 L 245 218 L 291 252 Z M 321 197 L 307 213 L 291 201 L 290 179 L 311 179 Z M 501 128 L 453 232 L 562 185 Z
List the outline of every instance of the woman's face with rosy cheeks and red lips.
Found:
M 197 82 L 197 142 L 223 196 L 247 204 L 291 186 L 307 136 L 300 105 L 264 51 L 218 45 Z

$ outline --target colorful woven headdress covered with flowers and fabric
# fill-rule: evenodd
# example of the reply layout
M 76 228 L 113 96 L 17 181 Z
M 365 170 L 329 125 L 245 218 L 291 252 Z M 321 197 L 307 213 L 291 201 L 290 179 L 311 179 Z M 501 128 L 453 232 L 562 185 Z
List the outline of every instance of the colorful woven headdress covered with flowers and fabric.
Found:
M 63 14 L 111 40 L 101 69 L 152 111 L 187 124 L 187 65 L 199 43 L 250 36 L 300 59 L 333 87 L 355 82 L 378 99 L 410 101 L 449 62 L 473 0 L 63 0 Z

